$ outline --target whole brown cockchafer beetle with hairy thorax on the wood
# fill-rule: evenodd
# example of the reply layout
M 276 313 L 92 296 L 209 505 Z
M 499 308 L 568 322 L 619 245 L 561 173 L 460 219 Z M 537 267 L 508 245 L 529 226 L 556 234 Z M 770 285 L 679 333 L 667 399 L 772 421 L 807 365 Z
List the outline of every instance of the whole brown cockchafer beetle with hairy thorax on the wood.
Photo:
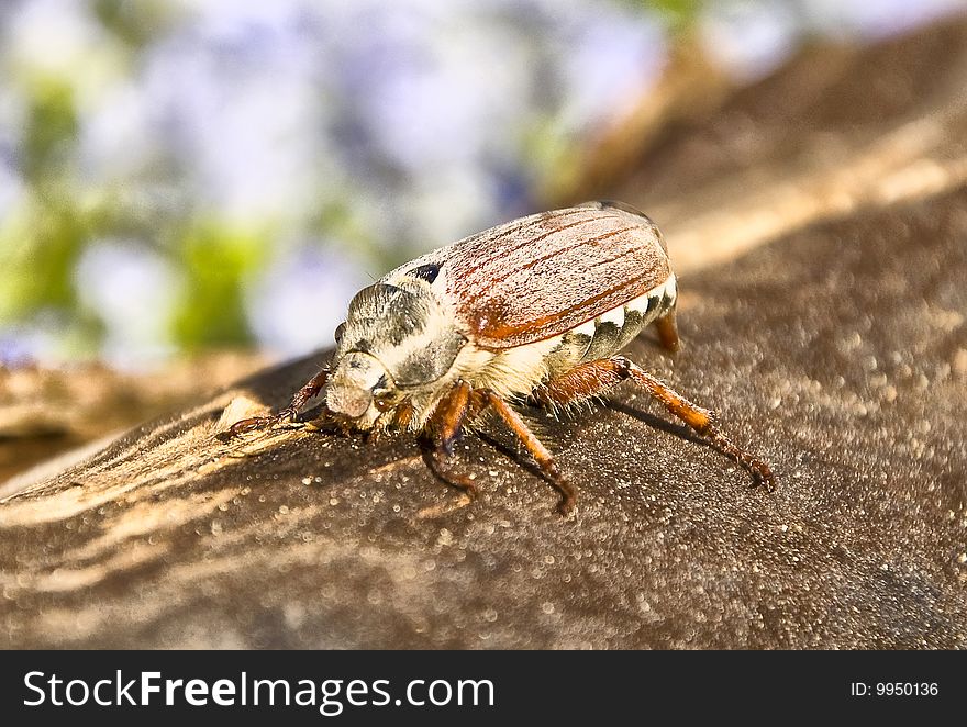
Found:
M 557 411 L 631 380 L 771 491 L 769 466 L 726 438 L 712 411 L 619 355 L 651 324 L 678 350 L 676 302 L 665 239 L 642 212 L 604 201 L 514 220 L 360 290 L 330 363 L 278 414 L 236 422 L 230 434 L 293 421 L 323 394 L 322 416 L 344 430 L 420 434 L 434 473 L 474 497 L 470 479 L 446 463 L 463 430 L 491 410 L 560 491 L 567 515 L 577 491 L 512 404 Z

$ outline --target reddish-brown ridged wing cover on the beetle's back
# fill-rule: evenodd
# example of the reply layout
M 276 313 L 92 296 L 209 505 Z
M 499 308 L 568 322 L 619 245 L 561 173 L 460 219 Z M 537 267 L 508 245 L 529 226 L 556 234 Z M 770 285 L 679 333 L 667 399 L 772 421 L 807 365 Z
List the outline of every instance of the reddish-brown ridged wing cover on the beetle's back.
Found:
M 576 328 L 662 284 L 662 235 L 616 203 L 543 212 L 491 227 L 405 266 L 440 266 L 458 327 L 504 349 Z

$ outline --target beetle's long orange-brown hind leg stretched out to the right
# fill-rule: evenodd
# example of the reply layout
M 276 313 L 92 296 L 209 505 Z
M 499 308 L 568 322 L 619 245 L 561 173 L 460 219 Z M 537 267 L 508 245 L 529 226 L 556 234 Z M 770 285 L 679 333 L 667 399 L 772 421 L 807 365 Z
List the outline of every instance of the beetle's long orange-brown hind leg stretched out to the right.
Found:
M 541 387 L 536 398 L 545 404 L 569 404 L 587 396 L 604 393 L 626 379 L 644 387 L 665 409 L 692 429 L 707 437 L 720 451 L 745 467 L 756 482 L 771 492 L 776 479 L 769 466 L 758 457 L 733 444 L 715 423 L 715 413 L 693 404 L 624 356 L 588 361 Z

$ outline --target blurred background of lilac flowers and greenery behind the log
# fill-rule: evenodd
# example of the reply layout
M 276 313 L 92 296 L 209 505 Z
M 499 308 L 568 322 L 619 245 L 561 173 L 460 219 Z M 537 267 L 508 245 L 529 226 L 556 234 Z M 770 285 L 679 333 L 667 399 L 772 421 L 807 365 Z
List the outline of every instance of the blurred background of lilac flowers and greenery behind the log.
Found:
M 811 44 L 964 8 L 2 0 L 0 478 L 49 452 L 24 435 L 66 447 L 329 346 L 359 287 L 614 189 Z

